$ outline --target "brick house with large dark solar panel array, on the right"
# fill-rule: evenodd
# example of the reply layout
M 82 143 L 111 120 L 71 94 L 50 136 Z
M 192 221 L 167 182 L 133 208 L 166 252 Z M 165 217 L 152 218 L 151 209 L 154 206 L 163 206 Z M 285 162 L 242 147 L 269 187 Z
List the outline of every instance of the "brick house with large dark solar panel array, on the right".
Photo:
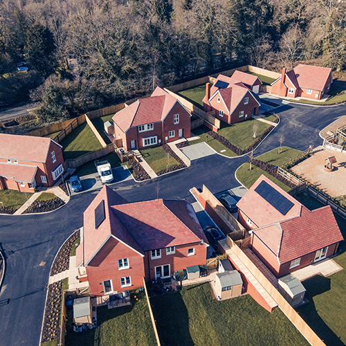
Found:
M 237 206 L 252 251 L 277 277 L 334 255 L 343 241 L 330 206 L 309 210 L 264 175 Z

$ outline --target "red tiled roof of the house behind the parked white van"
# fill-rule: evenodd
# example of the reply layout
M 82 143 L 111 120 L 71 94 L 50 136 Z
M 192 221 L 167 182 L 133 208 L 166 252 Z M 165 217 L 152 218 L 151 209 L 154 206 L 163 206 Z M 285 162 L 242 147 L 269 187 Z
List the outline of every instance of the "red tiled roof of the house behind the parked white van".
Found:
M 149 98 L 138 99 L 129 107 L 118 111 L 112 119 L 126 132 L 130 127 L 162 121 L 176 102 L 179 101 L 157 86 Z

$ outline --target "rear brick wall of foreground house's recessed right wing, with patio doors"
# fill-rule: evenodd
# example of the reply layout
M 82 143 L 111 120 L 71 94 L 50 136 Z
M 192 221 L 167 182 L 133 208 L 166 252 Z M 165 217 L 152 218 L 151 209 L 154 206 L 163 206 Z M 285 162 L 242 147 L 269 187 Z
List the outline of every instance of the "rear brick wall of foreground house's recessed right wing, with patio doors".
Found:
M 188 248 L 194 248 L 194 255 L 188 256 Z M 199 243 L 176 246 L 175 253 L 166 255 L 166 249 L 161 248 L 161 258 L 152 260 L 151 252 L 145 253 L 145 279 L 155 279 L 155 267 L 170 264 L 170 275 L 187 266 L 203 266 L 207 263 L 207 246 Z

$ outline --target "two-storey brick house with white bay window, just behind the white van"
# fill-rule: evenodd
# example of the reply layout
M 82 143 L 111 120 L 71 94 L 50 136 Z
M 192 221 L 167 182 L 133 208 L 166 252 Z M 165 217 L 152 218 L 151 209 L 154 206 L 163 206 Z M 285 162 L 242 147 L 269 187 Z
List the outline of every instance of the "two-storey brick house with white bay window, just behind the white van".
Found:
M 163 145 L 191 136 L 190 116 L 183 104 L 157 86 L 149 98 L 140 98 L 113 116 L 113 136 L 122 139 L 126 151 Z

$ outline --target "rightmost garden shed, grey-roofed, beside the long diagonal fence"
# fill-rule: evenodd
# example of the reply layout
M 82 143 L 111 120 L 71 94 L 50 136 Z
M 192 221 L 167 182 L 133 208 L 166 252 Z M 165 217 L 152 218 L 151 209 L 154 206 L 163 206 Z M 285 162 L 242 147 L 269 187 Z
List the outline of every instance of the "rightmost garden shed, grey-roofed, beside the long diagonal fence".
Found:
M 292 307 L 302 304 L 306 289 L 296 277 L 291 274 L 286 275 L 279 279 L 278 284 L 277 290 Z

